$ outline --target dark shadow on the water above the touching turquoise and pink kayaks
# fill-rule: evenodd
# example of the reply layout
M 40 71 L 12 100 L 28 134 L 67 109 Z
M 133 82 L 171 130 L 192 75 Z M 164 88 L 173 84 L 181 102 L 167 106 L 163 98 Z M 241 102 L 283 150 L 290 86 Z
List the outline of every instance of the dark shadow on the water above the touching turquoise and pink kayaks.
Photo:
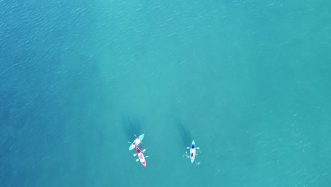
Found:
M 123 130 L 124 134 L 127 137 L 127 141 L 133 141 L 135 139 L 134 135 L 141 135 L 141 123 L 137 119 L 132 118 L 123 118 Z

